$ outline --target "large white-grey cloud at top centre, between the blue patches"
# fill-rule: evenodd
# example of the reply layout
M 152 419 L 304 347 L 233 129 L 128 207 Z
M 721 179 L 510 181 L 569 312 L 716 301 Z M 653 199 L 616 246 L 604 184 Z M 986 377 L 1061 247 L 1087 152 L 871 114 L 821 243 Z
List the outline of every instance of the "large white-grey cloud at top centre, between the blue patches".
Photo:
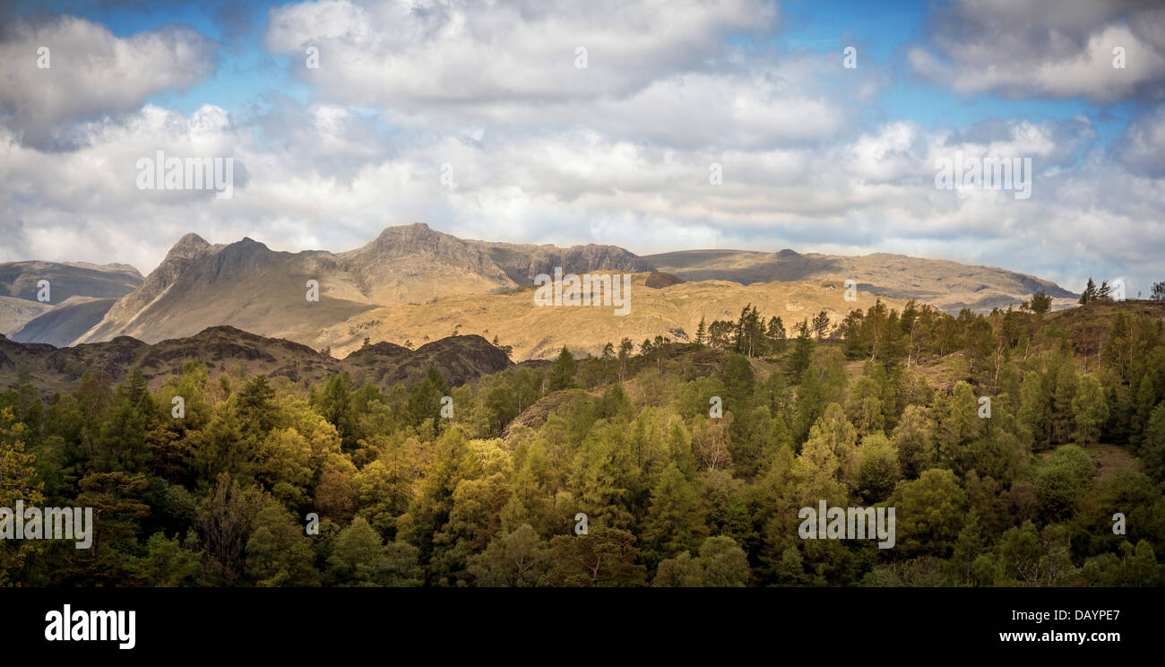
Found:
M 728 40 L 764 36 L 777 23 L 762 0 L 327 0 L 273 10 L 266 44 L 292 56 L 292 72 L 320 99 L 382 108 L 394 126 L 582 127 L 678 148 L 812 143 L 850 132 L 854 103 L 868 101 L 883 73 L 842 70 L 832 54 L 778 55 Z M 305 66 L 311 47 L 318 69 Z

